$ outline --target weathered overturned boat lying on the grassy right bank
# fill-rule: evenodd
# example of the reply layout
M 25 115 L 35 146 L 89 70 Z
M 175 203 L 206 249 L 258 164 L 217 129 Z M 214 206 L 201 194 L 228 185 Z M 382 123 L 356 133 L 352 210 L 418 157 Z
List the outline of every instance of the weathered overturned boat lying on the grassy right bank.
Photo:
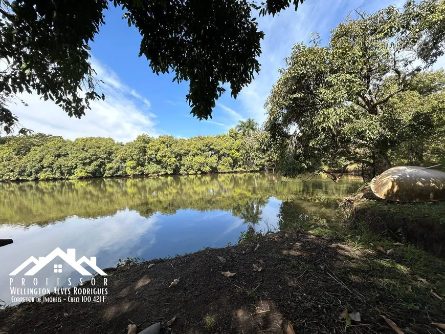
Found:
M 430 202 L 445 200 L 445 173 L 439 165 L 423 168 L 397 166 L 371 180 L 375 196 L 398 202 Z

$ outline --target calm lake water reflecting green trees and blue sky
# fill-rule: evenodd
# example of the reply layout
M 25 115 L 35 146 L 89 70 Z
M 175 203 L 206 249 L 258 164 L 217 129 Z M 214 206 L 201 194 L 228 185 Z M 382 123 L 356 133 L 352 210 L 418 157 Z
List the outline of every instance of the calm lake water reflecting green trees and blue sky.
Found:
M 249 224 L 266 232 L 311 216 L 329 219 L 360 181 L 244 173 L 0 183 L 0 239 L 14 240 L 0 247 L 0 300 L 11 304 L 9 274 L 15 268 L 56 247 L 75 248 L 77 259 L 96 257 L 100 268 L 127 257 L 149 260 L 224 247 Z M 80 274 L 69 265 L 54 273 L 60 262 L 24 276 L 30 264 L 14 284 L 21 278 L 25 287 L 46 287 L 47 278 L 50 288 L 57 278 L 64 287 L 68 278 L 78 282 Z

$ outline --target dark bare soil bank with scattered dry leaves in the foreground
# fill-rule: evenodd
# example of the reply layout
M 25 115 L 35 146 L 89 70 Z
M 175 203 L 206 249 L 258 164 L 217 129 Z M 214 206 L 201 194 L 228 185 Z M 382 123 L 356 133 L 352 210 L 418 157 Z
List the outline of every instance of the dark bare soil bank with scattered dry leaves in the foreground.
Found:
M 139 332 L 174 316 L 163 332 L 285 333 L 290 322 L 296 333 L 394 333 L 384 315 L 405 333 L 422 334 L 445 323 L 445 302 L 432 294 L 445 292 L 438 288 L 445 266 L 416 273 L 399 251 L 405 245 L 386 254 L 292 232 L 253 241 L 112 270 L 103 303 L 6 308 L 0 332 L 124 334 L 129 323 Z M 227 271 L 236 275 L 220 273 Z M 360 312 L 361 321 L 339 319 L 344 310 Z

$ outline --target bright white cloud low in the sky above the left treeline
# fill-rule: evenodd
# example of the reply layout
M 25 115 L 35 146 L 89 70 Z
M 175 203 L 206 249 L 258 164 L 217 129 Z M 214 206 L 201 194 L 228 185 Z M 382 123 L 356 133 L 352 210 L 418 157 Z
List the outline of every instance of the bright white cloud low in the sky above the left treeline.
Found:
M 66 139 L 100 136 L 127 142 L 142 133 L 158 136 L 156 116 L 148 111 L 150 101 L 122 83 L 116 73 L 97 59 L 92 60 L 92 65 L 97 78 L 104 81 L 101 86 L 106 97 L 105 101 L 92 102 L 91 110 L 85 111 L 81 119 L 70 118 L 53 101 L 40 100 L 37 94 L 19 96 L 29 106 L 17 103 L 11 110 L 25 128 Z

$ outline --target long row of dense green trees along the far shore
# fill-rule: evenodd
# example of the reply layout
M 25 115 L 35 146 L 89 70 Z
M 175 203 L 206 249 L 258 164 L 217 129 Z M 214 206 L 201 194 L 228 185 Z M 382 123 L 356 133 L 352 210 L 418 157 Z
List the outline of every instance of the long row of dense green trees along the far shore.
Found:
M 101 137 L 5 137 L 0 142 L 0 180 L 258 171 L 264 168 L 262 136 L 255 124 L 255 131 L 246 135 L 234 129 L 189 139 L 140 135 L 125 144 Z

